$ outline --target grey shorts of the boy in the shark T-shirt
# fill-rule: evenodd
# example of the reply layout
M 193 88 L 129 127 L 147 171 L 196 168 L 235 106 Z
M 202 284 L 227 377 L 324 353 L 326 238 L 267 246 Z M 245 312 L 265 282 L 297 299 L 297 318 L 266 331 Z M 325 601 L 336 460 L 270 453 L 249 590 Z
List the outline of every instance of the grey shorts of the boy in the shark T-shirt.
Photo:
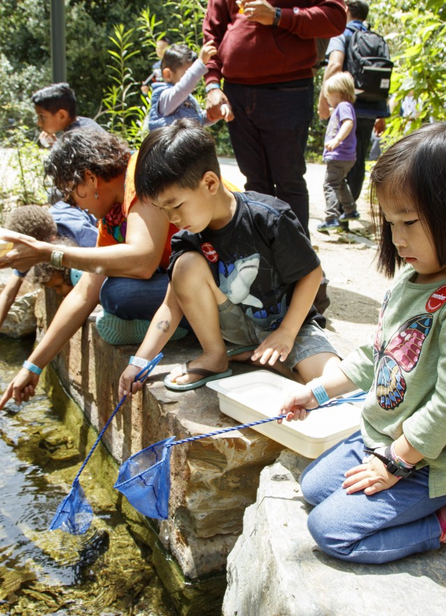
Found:
M 224 340 L 230 343 L 240 346 L 259 345 L 271 333 L 271 331 L 261 329 L 256 325 L 245 315 L 240 306 L 236 306 L 229 299 L 218 306 L 218 313 L 222 336 Z M 339 355 L 323 329 L 316 321 L 312 321 L 300 328 L 293 349 L 284 364 L 293 370 L 302 359 L 307 359 L 307 357 L 318 353 Z

